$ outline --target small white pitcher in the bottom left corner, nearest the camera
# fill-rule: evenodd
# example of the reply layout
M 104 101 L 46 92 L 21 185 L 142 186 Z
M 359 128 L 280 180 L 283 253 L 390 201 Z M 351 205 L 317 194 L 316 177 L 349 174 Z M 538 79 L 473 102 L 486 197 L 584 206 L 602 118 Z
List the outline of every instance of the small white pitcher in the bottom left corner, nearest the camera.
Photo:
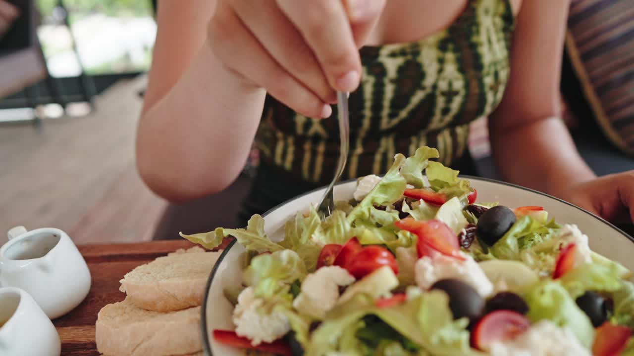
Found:
M 0 355 L 60 356 L 53 322 L 23 289 L 0 288 Z

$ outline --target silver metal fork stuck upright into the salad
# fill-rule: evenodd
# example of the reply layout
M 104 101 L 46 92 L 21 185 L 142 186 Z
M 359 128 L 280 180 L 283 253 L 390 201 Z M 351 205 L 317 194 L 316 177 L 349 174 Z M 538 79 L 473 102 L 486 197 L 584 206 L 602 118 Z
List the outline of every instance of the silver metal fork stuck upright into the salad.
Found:
M 350 140 L 350 122 L 348 118 L 348 97 L 347 92 L 337 92 L 337 113 L 339 117 L 339 161 L 337 162 L 337 170 L 335 176 L 330 182 L 328 189 L 326 189 L 321 201 L 317 207 L 317 212 L 320 214 L 321 220 L 325 220 L 335 210 L 335 198 L 332 194 L 335 183 L 339 181 L 341 174 L 346 167 L 346 160 L 348 158 L 348 148 Z

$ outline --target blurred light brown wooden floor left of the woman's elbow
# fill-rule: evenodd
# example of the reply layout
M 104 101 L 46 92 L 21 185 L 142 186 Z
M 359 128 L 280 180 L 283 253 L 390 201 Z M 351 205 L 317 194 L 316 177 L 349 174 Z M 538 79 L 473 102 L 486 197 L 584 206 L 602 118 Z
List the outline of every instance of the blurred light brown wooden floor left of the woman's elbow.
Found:
M 23 225 L 58 227 L 77 244 L 151 239 L 166 203 L 134 167 L 144 84 L 115 84 L 85 117 L 0 124 L 0 233 Z

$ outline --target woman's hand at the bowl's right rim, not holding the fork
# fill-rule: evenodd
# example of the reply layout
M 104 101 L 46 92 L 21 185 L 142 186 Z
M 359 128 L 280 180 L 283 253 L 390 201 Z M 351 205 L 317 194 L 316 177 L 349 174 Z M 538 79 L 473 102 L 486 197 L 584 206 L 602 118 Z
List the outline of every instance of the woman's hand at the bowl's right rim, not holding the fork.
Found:
M 634 170 L 578 183 L 558 195 L 610 222 L 634 222 Z

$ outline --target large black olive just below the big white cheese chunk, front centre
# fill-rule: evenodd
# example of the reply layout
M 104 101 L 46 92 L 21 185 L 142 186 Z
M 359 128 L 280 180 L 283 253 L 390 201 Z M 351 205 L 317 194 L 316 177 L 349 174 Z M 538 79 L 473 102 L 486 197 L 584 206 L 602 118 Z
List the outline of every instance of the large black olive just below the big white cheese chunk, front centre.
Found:
M 449 296 L 449 308 L 453 319 L 467 317 L 474 322 L 482 315 L 484 299 L 467 283 L 458 279 L 441 279 L 430 289 L 441 289 Z

